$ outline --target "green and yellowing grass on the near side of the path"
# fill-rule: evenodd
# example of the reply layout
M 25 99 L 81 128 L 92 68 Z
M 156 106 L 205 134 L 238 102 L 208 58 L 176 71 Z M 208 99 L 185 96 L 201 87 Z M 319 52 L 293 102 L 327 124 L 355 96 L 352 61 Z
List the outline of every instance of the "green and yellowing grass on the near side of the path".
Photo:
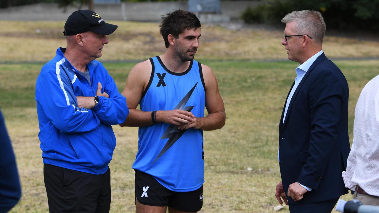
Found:
M 201 212 L 273 212 L 280 180 L 276 160 L 283 103 L 295 77 L 293 62 L 200 61 L 213 68 L 225 102 L 221 130 L 204 133 L 205 184 Z M 363 86 L 377 75 L 378 61 L 336 61 L 350 88 L 349 136 Z M 120 91 L 133 63 L 106 63 Z M 34 84 L 42 64 L 0 64 L 0 105 L 20 173 L 23 197 L 11 212 L 47 212 L 38 140 Z M 137 128 L 114 126 L 111 212 L 133 212 Z M 252 171 L 247 171 L 247 168 Z M 350 195 L 344 196 L 346 200 Z M 288 212 L 288 208 L 280 212 Z

